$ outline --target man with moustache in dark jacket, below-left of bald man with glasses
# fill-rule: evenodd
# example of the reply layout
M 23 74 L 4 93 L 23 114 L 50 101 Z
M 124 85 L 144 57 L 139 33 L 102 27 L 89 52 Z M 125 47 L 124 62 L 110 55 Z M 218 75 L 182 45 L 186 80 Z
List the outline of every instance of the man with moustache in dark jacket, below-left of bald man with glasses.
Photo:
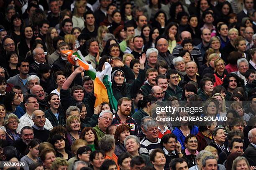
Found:
M 20 152 L 20 154 L 23 157 L 24 155 L 26 155 L 25 150 L 27 148 L 27 145 L 31 140 L 34 139 L 34 132 L 32 127 L 30 126 L 23 127 L 20 131 L 20 137 L 21 139 L 16 140 L 13 145 L 14 147 L 16 147 L 16 149 Z

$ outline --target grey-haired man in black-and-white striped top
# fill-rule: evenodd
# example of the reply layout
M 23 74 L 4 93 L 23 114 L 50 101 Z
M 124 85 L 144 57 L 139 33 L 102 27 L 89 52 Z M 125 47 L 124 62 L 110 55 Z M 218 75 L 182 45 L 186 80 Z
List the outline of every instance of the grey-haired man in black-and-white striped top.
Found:
M 160 87 L 161 88 L 161 87 Z M 143 133 L 146 137 L 141 140 L 140 153 L 145 155 L 150 155 L 150 153 L 156 149 L 160 148 L 161 139 L 158 138 L 158 125 L 156 121 L 149 120 L 145 122 L 143 127 Z

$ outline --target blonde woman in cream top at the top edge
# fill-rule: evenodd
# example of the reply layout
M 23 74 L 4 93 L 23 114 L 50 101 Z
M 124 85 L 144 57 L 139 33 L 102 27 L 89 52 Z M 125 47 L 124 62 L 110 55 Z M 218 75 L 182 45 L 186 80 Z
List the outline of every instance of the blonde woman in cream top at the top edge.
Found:
M 84 29 L 84 15 L 85 13 L 85 5 L 84 1 L 79 0 L 76 1 L 74 5 L 74 14 L 72 17 L 73 27 L 78 27 L 81 30 Z

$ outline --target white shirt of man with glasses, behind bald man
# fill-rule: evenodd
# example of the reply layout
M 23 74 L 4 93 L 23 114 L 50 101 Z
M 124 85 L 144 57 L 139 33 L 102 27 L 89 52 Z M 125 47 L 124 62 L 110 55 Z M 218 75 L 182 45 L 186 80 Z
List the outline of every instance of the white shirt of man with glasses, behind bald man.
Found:
M 32 116 L 30 116 L 27 112 L 20 117 L 20 123 L 18 124 L 18 128 L 17 128 L 17 132 L 20 133 L 20 130 L 24 127 L 24 126 L 30 126 L 32 127 L 34 125 L 34 122 L 32 120 Z M 53 126 L 51 125 L 51 122 L 45 118 L 45 124 L 44 124 L 44 128 L 51 130 L 53 129 Z

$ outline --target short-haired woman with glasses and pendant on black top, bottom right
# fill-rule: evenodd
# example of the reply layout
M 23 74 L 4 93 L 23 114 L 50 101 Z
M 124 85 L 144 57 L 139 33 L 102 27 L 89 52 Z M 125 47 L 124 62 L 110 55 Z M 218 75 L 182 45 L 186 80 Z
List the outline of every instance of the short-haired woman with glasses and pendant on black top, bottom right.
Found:
M 182 154 L 187 158 L 188 160 L 188 167 L 192 167 L 196 165 L 196 155 L 199 153 L 197 151 L 197 138 L 194 134 L 189 134 L 185 138 L 184 142 L 186 149 L 182 150 Z

